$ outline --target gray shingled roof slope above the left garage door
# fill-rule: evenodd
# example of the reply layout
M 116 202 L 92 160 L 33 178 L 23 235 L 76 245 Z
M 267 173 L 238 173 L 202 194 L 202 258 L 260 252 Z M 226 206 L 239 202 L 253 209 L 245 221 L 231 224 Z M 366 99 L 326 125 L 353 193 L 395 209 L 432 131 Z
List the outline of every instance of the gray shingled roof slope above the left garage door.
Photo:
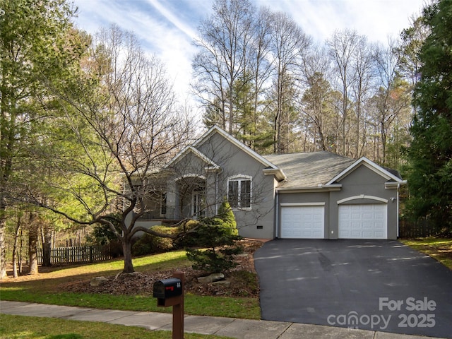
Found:
M 266 160 L 283 169 L 287 179 L 278 187 L 302 189 L 326 184 L 356 160 L 330 152 L 265 155 Z

